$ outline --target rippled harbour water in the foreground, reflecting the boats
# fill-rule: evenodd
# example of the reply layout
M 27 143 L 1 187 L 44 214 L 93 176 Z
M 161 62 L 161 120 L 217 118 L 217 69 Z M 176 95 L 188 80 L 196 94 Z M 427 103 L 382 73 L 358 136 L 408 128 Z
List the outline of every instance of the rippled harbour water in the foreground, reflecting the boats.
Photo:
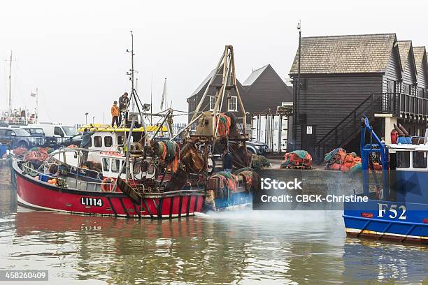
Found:
M 0 269 L 52 284 L 428 284 L 427 247 L 346 238 L 341 211 L 90 217 L 17 206 L 4 181 Z

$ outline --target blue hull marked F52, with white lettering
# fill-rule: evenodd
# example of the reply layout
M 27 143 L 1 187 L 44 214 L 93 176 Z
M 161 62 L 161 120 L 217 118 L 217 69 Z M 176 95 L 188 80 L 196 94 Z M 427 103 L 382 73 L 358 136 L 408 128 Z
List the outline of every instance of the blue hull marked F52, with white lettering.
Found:
M 349 236 L 428 244 L 428 204 L 369 200 L 344 207 Z

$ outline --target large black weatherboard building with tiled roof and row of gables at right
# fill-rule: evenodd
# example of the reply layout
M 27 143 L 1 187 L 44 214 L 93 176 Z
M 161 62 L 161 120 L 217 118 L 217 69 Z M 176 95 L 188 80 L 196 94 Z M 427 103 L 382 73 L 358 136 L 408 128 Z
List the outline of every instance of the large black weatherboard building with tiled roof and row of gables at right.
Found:
M 290 77 L 297 90 L 298 53 Z M 294 94 L 293 149 L 322 161 L 336 147 L 359 149 L 359 118 L 390 141 L 392 124 L 423 135 L 428 116 L 425 47 L 395 34 L 301 38 L 299 96 Z

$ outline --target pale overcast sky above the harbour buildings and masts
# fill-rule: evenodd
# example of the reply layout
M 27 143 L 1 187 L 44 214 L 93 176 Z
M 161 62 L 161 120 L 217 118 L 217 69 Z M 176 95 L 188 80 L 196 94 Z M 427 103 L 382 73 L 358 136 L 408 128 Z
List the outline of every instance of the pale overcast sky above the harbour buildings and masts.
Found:
M 83 123 L 89 112 L 90 121 L 103 122 L 104 115 L 110 122 L 111 104 L 130 89 L 129 30 L 142 100 L 150 101 L 153 77 L 159 110 L 168 78 L 168 101 L 187 110 L 185 99 L 215 67 L 224 45 L 234 45 L 241 82 L 265 64 L 286 78 L 299 19 L 303 36 L 392 32 L 428 45 L 428 7 L 419 2 L 2 1 L 0 109 L 8 102 L 10 50 L 14 107 L 34 108 L 29 94 L 38 87 L 41 121 Z

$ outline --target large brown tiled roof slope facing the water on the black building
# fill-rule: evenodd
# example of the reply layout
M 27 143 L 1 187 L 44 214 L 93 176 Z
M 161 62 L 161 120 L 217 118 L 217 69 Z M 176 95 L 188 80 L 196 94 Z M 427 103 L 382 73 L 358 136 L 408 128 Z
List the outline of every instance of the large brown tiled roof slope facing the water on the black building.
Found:
M 383 73 L 395 34 L 301 38 L 301 73 Z M 290 74 L 297 74 L 298 52 Z

